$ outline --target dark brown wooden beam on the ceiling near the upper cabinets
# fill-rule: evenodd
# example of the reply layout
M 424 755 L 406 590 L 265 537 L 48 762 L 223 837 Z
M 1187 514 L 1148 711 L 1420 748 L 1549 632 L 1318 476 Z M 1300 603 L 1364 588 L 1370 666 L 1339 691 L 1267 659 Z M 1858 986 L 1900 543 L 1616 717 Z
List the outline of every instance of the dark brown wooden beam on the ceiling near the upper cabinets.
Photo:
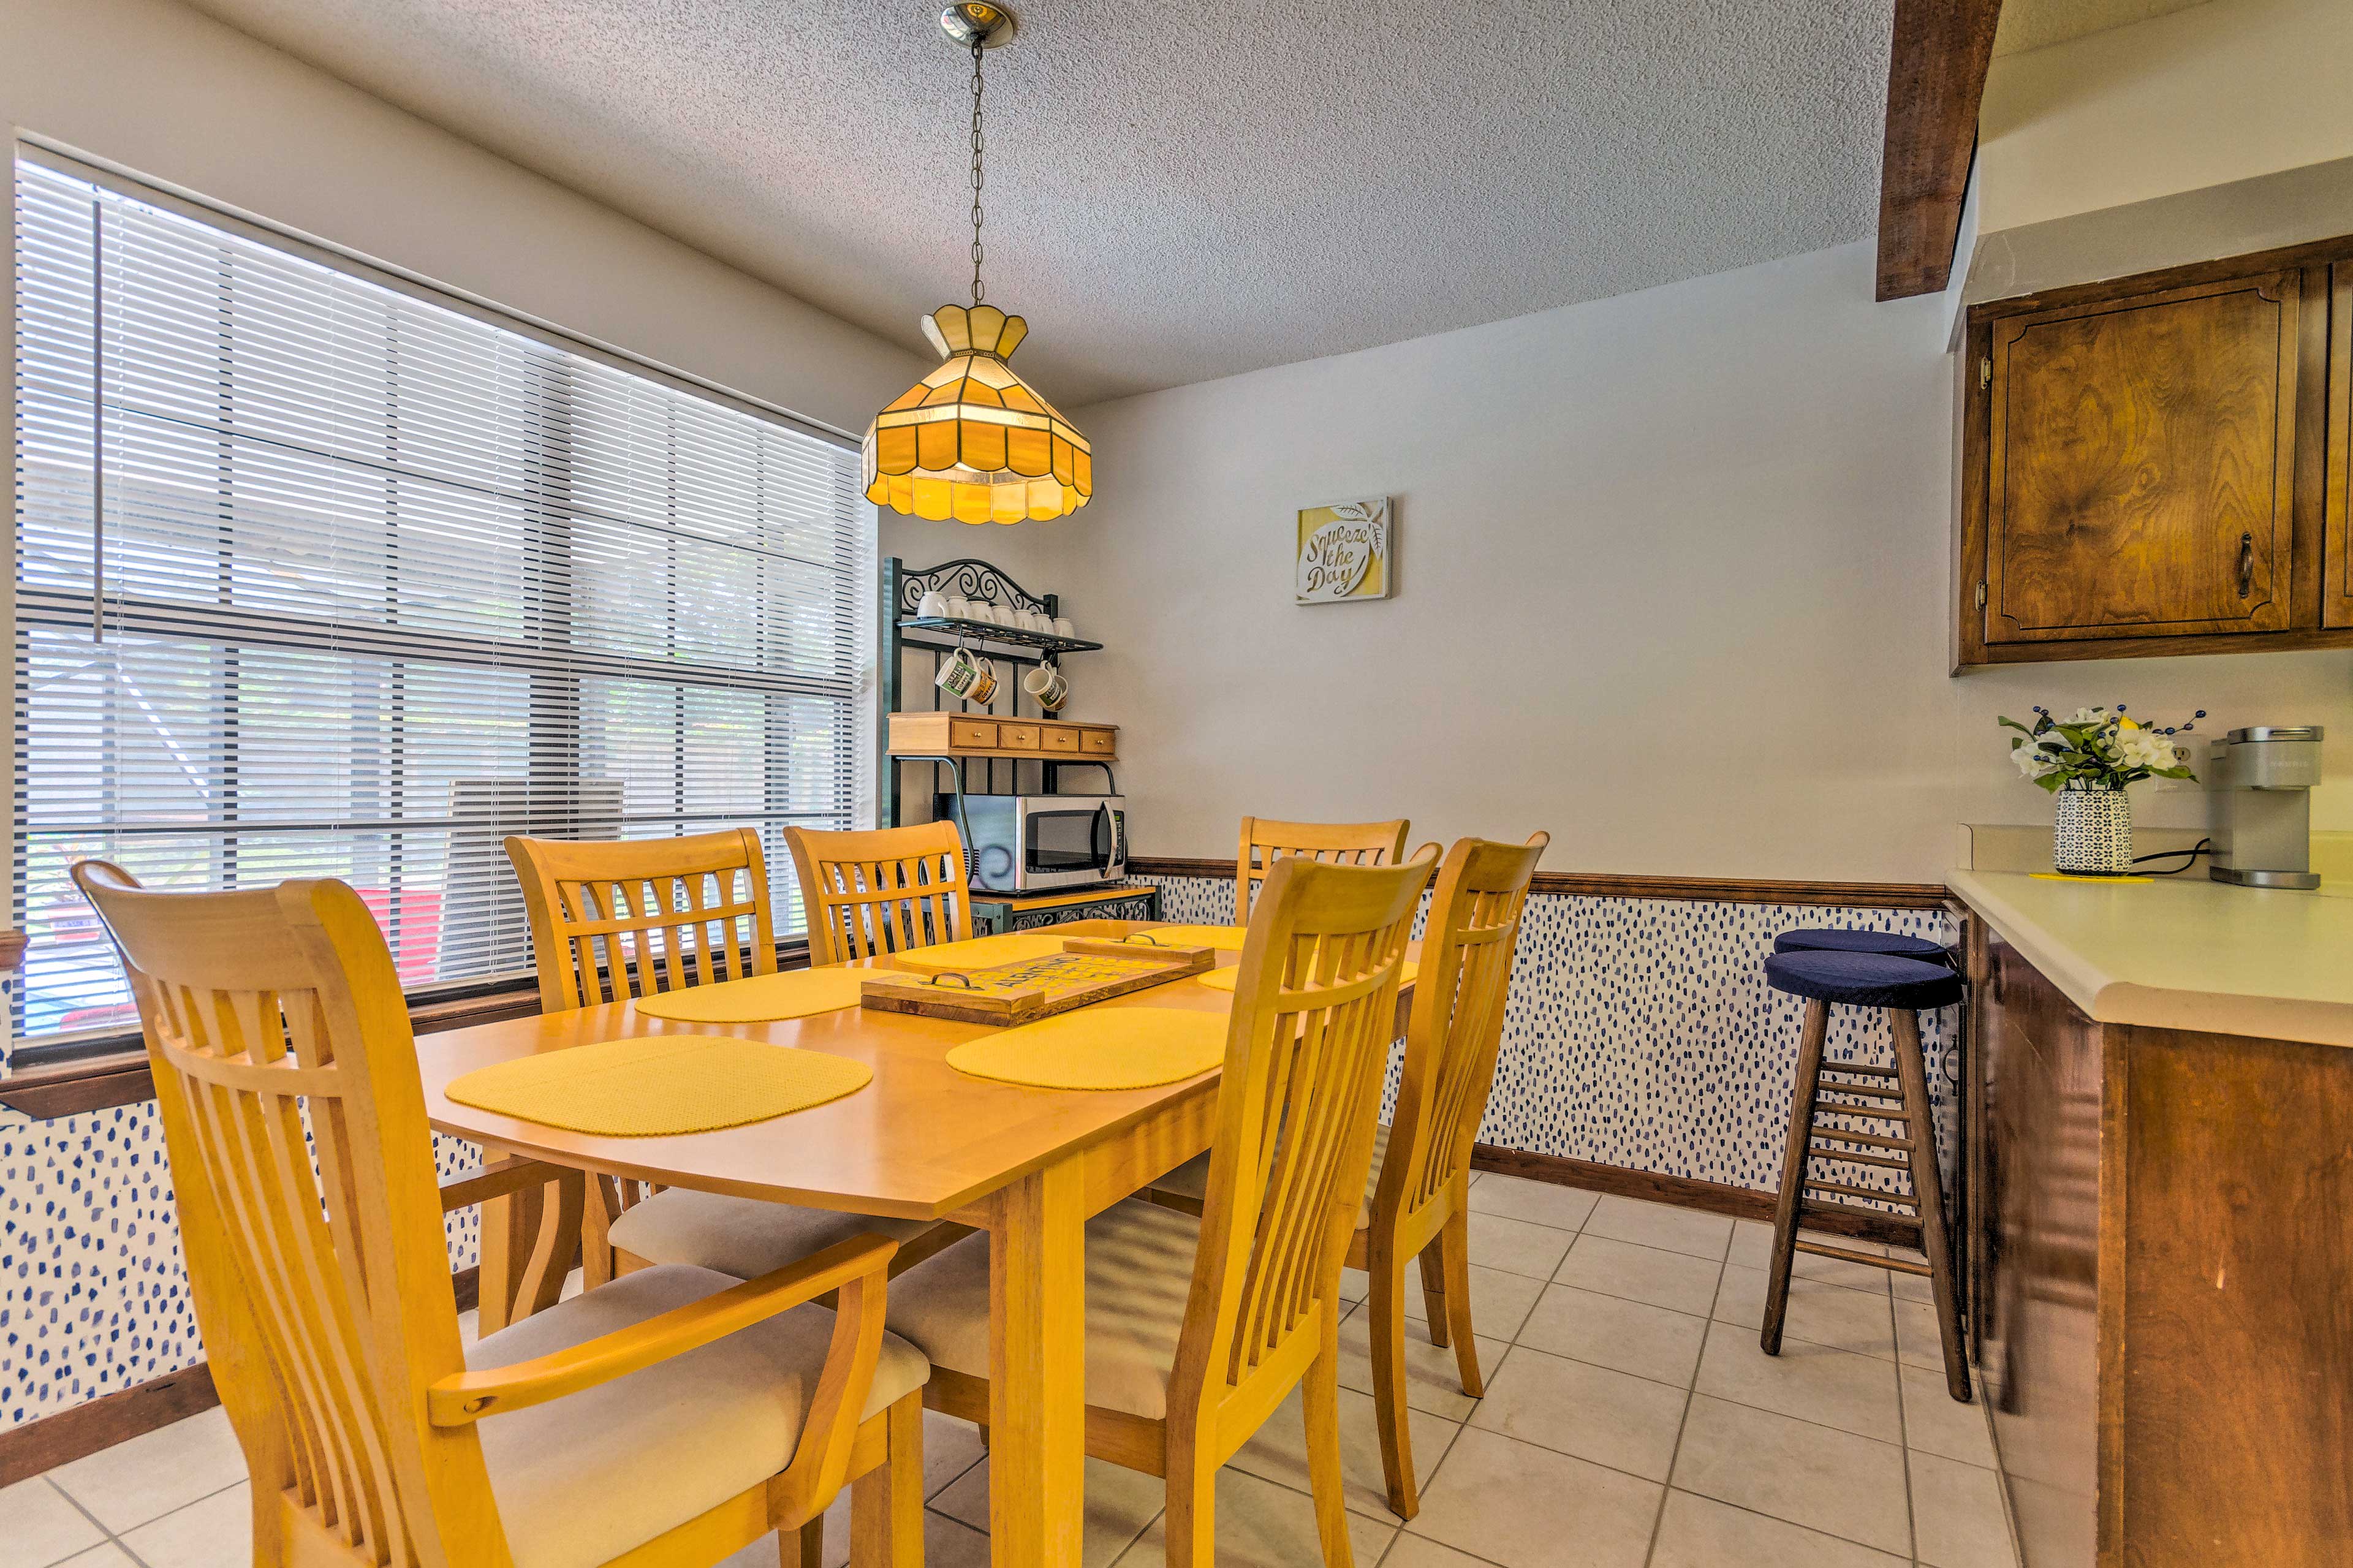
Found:
M 2002 0 L 1897 0 L 1880 158 L 1880 299 L 1934 294 L 1953 275 L 2000 14 Z

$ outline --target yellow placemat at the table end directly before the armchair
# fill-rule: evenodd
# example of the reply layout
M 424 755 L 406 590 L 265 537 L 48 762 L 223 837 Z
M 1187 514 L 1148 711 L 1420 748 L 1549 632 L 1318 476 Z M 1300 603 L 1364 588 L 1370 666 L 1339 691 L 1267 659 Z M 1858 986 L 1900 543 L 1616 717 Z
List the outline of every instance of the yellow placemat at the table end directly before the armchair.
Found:
M 598 1041 L 480 1067 L 442 1090 L 518 1121 L 607 1137 L 739 1128 L 866 1088 L 873 1069 L 824 1050 L 715 1034 Z

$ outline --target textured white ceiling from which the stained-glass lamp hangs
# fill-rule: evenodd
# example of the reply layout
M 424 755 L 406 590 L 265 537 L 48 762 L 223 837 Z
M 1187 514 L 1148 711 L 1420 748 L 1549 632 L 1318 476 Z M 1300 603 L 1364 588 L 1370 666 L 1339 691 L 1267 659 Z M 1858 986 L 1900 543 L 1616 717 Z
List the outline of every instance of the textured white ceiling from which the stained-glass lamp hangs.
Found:
M 195 2 L 908 348 L 965 299 L 967 64 L 936 5 Z M 1892 0 L 1019 12 L 988 59 L 988 299 L 1031 318 L 1019 363 L 1064 407 L 1878 214 Z

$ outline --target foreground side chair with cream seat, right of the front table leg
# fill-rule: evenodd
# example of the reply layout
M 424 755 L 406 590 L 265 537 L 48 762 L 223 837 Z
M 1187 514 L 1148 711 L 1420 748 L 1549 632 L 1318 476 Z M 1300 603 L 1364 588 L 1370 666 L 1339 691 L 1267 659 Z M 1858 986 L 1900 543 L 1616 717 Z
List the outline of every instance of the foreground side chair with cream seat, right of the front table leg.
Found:
M 1172 1566 L 1209 1566 L 1217 1469 L 1304 1380 L 1325 1568 L 1348 1568 L 1339 1269 L 1431 864 L 1268 871 L 1226 1036 L 1207 1210 L 1125 1201 L 1087 1222 L 1087 1453 L 1167 1479 Z M 927 1403 L 988 1422 L 986 1236 L 899 1276 L 892 1330 L 932 1356 Z

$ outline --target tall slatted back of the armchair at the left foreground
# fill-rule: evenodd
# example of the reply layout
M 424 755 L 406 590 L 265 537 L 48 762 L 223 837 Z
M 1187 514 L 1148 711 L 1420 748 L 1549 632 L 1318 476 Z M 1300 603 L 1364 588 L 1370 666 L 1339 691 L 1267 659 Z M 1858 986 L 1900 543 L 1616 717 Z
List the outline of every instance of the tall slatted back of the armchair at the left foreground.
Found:
M 506 1563 L 473 1429 L 424 1417 L 464 1351 L 376 921 L 334 881 L 146 892 L 106 862 L 73 878 L 139 1003 L 205 1354 L 254 1486 L 353 1563 Z

